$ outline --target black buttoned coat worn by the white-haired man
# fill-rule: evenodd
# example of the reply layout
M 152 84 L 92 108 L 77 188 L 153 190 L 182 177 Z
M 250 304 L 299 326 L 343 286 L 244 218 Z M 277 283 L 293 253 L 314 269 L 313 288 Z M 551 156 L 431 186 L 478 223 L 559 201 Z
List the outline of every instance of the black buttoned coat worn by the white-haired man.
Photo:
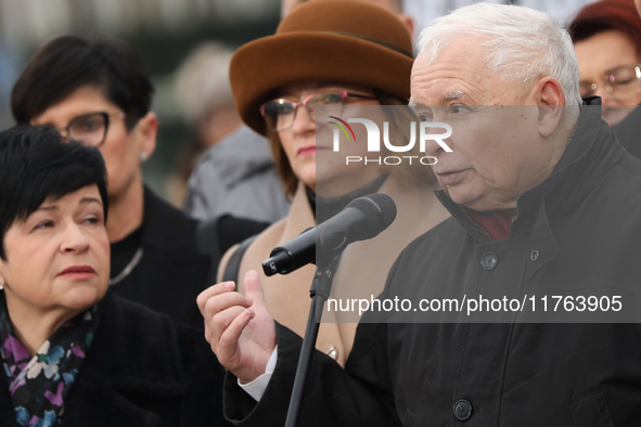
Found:
M 509 240 L 490 242 L 439 198 L 452 218 L 401 254 L 381 298 L 416 303 L 497 288 L 509 297 L 580 295 L 615 285 L 631 290 L 625 306 L 636 302 L 641 161 L 600 109 L 584 108 L 552 174 L 520 197 Z M 498 262 L 484 262 L 488 253 Z M 299 425 L 641 425 L 638 324 L 366 323 L 371 315 L 345 370 L 316 351 Z M 241 425 L 283 425 L 300 338 L 280 325 L 277 333 L 279 360 L 257 405 L 227 378 L 226 416 Z

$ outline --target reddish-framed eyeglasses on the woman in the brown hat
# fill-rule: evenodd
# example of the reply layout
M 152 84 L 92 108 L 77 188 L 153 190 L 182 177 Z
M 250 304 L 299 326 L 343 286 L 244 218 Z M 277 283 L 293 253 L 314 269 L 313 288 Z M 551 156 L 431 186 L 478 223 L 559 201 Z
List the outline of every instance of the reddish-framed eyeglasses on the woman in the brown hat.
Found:
M 280 132 L 290 129 L 296 119 L 296 112 L 299 106 L 305 106 L 309 117 L 316 120 L 316 107 L 319 105 L 345 105 L 347 98 L 360 98 L 364 100 L 376 100 L 376 96 L 360 95 L 346 90 L 334 90 L 329 92 L 312 93 L 302 102 L 294 102 L 279 98 L 266 102 L 260 106 L 260 114 L 265 121 L 275 131 Z M 336 113 L 341 114 L 341 113 Z

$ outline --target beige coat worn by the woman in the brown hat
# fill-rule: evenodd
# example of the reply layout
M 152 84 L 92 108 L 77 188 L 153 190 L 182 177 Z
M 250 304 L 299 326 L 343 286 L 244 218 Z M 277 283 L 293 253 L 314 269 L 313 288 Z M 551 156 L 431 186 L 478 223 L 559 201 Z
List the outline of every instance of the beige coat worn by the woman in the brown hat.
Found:
M 435 184 L 437 185 L 437 184 Z M 334 279 L 332 298 L 375 298 L 385 286 L 387 273 L 400 251 L 415 237 L 449 217 L 430 185 L 422 189 L 403 189 L 398 180 L 388 178 L 381 193 L 392 196 L 397 206 L 394 223 L 379 236 L 357 242 L 347 247 Z M 286 275 L 277 274 L 267 277 L 261 263 L 269 258 L 271 250 L 315 227 L 315 217 L 309 206 L 305 187 L 299 184 L 292 202 L 290 215 L 265 230 L 247 248 L 241 261 L 239 277 L 242 282 L 245 273 L 257 270 L 265 293 L 269 312 L 281 324 L 303 336 L 309 314 L 311 299 L 309 287 L 316 266 L 306 266 Z M 219 277 L 238 246 L 232 247 L 223 257 L 219 268 Z M 239 289 L 242 292 L 242 283 Z M 323 312 L 317 348 L 341 365 L 345 365 L 351 350 L 359 315 L 355 312 Z M 347 322 L 347 323 L 336 323 Z

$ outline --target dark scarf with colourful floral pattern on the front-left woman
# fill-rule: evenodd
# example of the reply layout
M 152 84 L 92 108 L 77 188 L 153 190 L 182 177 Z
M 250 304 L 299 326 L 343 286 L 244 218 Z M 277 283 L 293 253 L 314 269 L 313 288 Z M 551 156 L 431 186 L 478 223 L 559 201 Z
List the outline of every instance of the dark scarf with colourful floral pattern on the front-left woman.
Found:
M 98 327 L 98 305 L 60 326 L 31 358 L 15 336 L 0 294 L 0 355 L 15 419 L 21 426 L 53 426 Z

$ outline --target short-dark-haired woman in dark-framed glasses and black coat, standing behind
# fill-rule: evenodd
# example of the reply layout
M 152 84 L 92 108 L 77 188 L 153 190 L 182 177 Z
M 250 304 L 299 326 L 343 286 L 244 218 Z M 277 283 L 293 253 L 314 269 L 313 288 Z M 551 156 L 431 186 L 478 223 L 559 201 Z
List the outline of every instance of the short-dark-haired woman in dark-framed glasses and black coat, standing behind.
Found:
M 150 111 L 153 91 L 129 46 L 62 36 L 26 66 L 11 107 L 18 124 L 52 126 L 102 153 L 110 197 L 110 286 L 178 323 L 203 327 L 194 300 L 211 283 L 219 257 L 201 249 L 195 220 L 143 184 L 141 165 L 156 147 L 158 129 Z

